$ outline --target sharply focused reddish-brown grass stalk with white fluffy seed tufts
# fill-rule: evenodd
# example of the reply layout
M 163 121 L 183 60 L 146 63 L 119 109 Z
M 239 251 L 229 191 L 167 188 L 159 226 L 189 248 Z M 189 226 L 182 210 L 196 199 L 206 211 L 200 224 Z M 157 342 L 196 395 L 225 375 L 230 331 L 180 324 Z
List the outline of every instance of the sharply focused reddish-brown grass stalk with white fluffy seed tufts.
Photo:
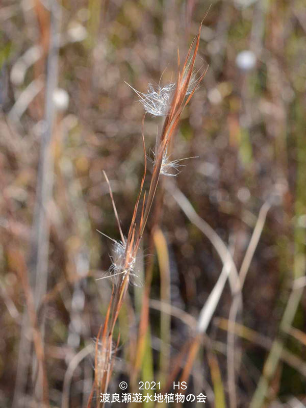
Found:
M 165 159 L 167 158 L 167 147 L 169 143 L 172 141 L 175 131 L 177 129 L 177 125 L 179 124 L 181 114 L 188 104 L 189 100 L 191 99 L 193 93 L 195 92 L 196 88 L 198 87 L 199 83 L 203 79 L 204 75 L 207 72 L 207 69 L 199 75 L 197 79 L 195 79 L 195 75 L 193 73 L 193 68 L 195 64 L 195 59 L 198 52 L 199 41 L 200 41 L 200 30 L 201 30 L 202 23 L 200 24 L 198 34 L 192 41 L 190 45 L 186 60 L 184 62 L 182 71 L 180 71 L 180 55 L 179 50 L 177 50 L 177 59 L 178 59 L 178 70 L 177 70 L 177 81 L 175 84 L 175 89 L 172 93 L 172 87 L 166 88 L 169 92 L 171 92 L 171 98 L 165 96 L 165 88 L 159 88 L 158 91 L 149 88 L 148 94 L 142 94 L 138 92 L 138 95 L 141 97 L 141 101 L 144 101 L 144 108 L 146 109 L 148 106 L 154 107 L 157 103 L 163 103 L 162 101 L 157 101 L 159 94 L 167 104 L 167 107 L 164 111 L 165 113 L 165 121 L 163 125 L 162 132 L 160 136 L 157 138 L 156 148 L 154 152 L 155 160 L 154 160 L 154 169 L 152 171 L 151 180 L 149 184 L 148 192 L 143 193 L 143 185 L 146 176 L 146 149 L 145 149 L 145 141 L 144 141 L 144 118 L 142 121 L 142 143 L 143 143 L 143 150 L 144 150 L 144 172 L 140 184 L 139 193 L 136 199 L 134 212 L 129 228 L 129 232 L 127 234 L 127 238 L 125 239 L 121 230 L 116 206 L 114 203 L 114 198 L 111 192 L 110 184 L 106 176 L 107 183 L 110 189 L 111 200 L 113 203 L 113 208 L 116 216 L 116 220 L 118 223 L 120 236 L 121 236 L 121 243 L 118 245 L 122 246 L 122 250 L 120 249 L 120 260 L 119 265 L 115 265 L 114 270 L 117 273 L 116 283 L 113 283 L 113 290 L 112 296 L 109 302 L 108 310 L 106 319 L 104 322 L 103 327 L 100 328 L 99 334 L 97 336 L 96 341 L 96 353 L 95 353 L 95 380 L 94 384 L 89 396 L 88 400 L 88 407 L 91 406 L 91 402 L 93 399 L 94 393 L 97 396 L 96 406 L 100 406 L 103 404 L 99 401 L 99 394 L 107 392 L 109 380 L 111 376 L 111 372 L 113 369 L 114 364 L 114 355 L 116 353 L 117 345 L 113 346 L 113 333 L 116 321 L 118 319 L 119 312 L 122 307 L 122 303 L 124 301 L 124 297 L 129 286 L 130 276 L 133 273 L 133 267 L 135 264 L 135 259 L 137 255 L 137 251 L 140 245 L 141 238 L 143 236 L 145 226 L 150 214 L 150 210 L 152 207 L 152 203 L 154 201 L 155 193 L 157 190 L 160 174 L 162 174 L 162 168 L 166 165 Z M 163 90 L 163 92 L 161 92 Z M 153 94 L 152 94 L 153 93 Z M 170 103 L 169 103 L 170 101 Z M 151 103 L 151 105 L 150 105 Z M 153 104 L 153 105 L 152 105 Z M 168 108 L 169 104 L 169 108 Z M 160 111 L 162 111 L 161 105 L 158 105 Z M 152 114 L 152 110 L 149 109 L 149 113 Z M 166 159 L 167 160 L 167 159 Z M 142 203 L 141 203 L 142 200 Z M 140 210 L 140 220 L 136 222 L 136 217 Z

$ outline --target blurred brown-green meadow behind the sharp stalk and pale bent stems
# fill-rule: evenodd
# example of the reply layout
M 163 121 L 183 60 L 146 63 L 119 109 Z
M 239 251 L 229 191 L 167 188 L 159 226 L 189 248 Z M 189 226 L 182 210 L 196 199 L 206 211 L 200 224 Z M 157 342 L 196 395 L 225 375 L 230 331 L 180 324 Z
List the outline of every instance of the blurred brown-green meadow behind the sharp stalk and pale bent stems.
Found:
M 41 406 L 33 402 L 31 310 L 42 331 L 50 405 L 86 406 L 111 295 L 111 279 L 96 279 L 110 267 L 112 243 L 96 230 L 120 239 L 102 170 L 124 233 L 143 172 L 143 108 L 124 81 L 141 92 L 164 70 L 161 84 L 175 81 L 177 47 L 184 60 L 206 14 L 196 66 L 209 69 L 171 154 L 199 158 L 168 180 L 231 248 L 238 270 L 262 205 L 271 205 L 237 318 L 237 406 L 306 406 L 303 0 L 1 2 L 1 406 Z M 147 150 L 158 125 L 146 116 Z M 160 233 L 152 245 L 152 213 L 137 286 L 119 317 L 113 392 L 130 378 L 146 265 L 153 262 L 144 380 L 168 378 L 192 337 L 188 321 L 198 319 L 222 269 L 212 243 L 163 188 Z M 165 258 L 169 279 L 161 285 Z M 176 308 L 171 320 L 160 300 Z M 205 393 L 207 406 L 233 408 L 226 368 L 232 300 L 226 284 L 193 362 L 189 391 Z

